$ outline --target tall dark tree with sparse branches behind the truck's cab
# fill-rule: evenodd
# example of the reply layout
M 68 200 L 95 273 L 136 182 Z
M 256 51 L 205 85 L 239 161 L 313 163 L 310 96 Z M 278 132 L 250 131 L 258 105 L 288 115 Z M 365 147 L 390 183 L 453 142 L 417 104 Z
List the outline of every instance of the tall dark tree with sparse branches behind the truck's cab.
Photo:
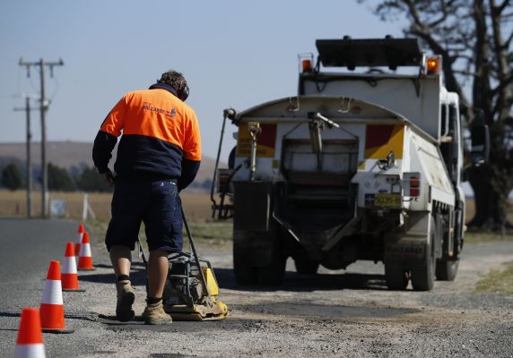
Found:
M 488 124 L 490 160 L 467 171 L 476 205 L 468 225 L 495 230 L 507 224 L 513 189 L 512 7 L 510 0 L 387 0 L 374 8 L 384 21 L 406 16 L 404 34 L 443 56 L 446 86 L 459 95 L 466 123 Z

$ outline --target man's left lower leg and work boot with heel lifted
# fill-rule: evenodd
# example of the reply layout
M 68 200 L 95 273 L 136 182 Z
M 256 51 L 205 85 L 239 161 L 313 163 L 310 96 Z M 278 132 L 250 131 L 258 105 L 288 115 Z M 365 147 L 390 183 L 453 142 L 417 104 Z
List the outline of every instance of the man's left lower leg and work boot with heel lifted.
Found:
M 132 304 L 134 304 L 135 294 L 132 283 L 128 279 L 130 276 L 132 253 L 130 248 L 124 245 L 113 245 L 109 253 L 110 261 L 117 277 L 117 319 L 122 321 L 134 320 L 135 312 L 132 310 Z

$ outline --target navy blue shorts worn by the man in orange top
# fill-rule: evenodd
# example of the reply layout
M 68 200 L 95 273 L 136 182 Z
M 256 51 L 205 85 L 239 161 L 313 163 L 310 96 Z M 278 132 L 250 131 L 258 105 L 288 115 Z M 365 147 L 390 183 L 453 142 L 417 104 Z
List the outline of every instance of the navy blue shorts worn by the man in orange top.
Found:
M 182 212 L 173 180 L 118 179 L 112 197 L 112 218 L 105 244 L 135 249 L 141 222 L 150 251 L 181 251 Z

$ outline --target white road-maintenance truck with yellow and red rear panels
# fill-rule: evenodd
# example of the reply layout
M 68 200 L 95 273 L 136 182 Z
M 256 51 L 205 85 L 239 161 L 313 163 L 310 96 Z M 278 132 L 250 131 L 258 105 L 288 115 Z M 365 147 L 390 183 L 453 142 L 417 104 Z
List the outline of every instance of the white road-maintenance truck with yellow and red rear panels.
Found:
M 279 284 L 288 257 L 305 275 L 383 261 L 397 290 L 453 280 L 465 232 L 464 132 L 442 58 L 414 38 L 316 45 L 315 66 L 300 55 L 297 96 L 224 112 L 222 132 L 227 118 L 238 126 L 237 146 L 229 168 L 216 165 L 213 216 L 233 217 L 237 281 Z M 394 71 L 405 66 L 415 72 Z M 472 132 L 479 164 L 487 129 Z

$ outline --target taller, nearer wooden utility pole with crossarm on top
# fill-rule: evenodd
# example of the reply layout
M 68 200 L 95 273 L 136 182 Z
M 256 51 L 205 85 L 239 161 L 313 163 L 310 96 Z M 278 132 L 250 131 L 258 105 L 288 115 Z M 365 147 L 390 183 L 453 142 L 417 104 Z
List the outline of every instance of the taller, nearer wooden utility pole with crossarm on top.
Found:
M 48 217 L 48 166 L 47 166 L 47 122 L 46 122 L 46 111 L 49 104 L 45 98 L 45 66 L 50 69 L 50 76 L 54 75 L 54 67 L 64 65 L 63 60 L 59 59 L 57 62 L 45 62 L 42 58 L 39 62 L 24 62 L 20 58 L 21 66 L 27 68 L 27 77 L 30 77 L 30 67 L 39 66 L 39 81 L 41 85 L 40 103 L 39 110 L 41 114 L 41 169 L 43 175 L 43 183 L 41 190 L 41 217 Z

